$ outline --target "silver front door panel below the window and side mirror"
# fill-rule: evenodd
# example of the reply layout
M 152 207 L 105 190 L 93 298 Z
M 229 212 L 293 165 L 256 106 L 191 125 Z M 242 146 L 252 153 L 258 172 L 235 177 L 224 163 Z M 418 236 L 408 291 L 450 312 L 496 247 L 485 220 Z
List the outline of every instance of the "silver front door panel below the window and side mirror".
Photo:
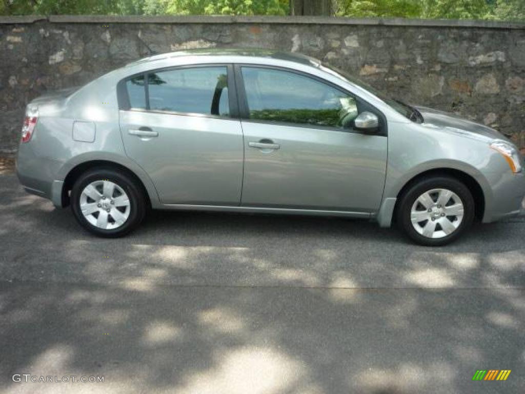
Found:
M 372 213 L 381 204 L 387 138 L 243 121 L 243 206 Z M 275 151 L 252 148 L 270 139 Z

